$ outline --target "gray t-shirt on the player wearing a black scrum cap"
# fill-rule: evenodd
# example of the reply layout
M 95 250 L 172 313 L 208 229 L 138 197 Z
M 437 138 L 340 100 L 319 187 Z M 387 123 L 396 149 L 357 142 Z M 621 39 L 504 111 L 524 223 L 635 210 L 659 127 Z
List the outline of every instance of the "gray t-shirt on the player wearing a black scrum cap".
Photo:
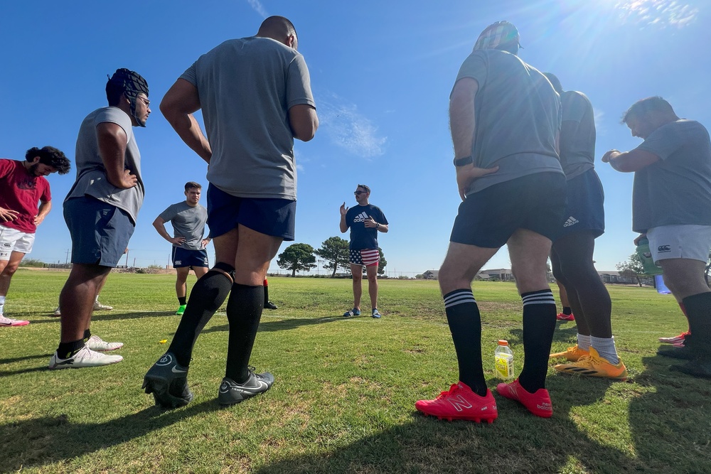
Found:
M 126 133 L 128 141 L 124 169 L 131 170 L 137 177 L 138 181 L 133 188 L 121 189 L 109 183 L 104 162 L 99 155 L 97 139 L 97 126 L 103 122 L 117 124 Z M 79 128 L 75 161 L 77 179 L 65 200 L 91 196 L 125 210 L 135 225 L 146 190 L 141 178 L 141 153 L 133 134 L 131 117 L 118 107 L 102 107 L 87 115 Z

